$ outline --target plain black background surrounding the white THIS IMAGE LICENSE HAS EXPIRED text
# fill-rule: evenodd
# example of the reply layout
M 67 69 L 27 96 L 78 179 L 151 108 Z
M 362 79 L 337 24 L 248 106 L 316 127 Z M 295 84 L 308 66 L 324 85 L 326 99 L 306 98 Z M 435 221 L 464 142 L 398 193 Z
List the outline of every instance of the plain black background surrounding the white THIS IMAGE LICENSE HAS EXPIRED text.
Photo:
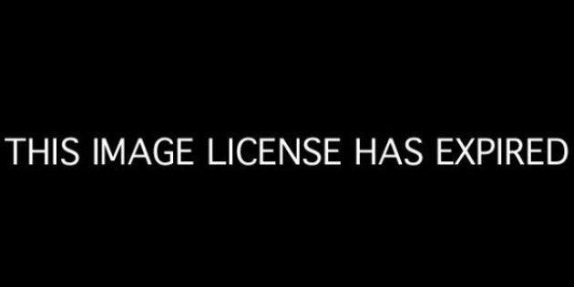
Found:
M 1 135 L 418 136 L 423 166 L 14 168 L 5 149 L 11 269 L 218 281 L 562 272 L 569 163 L 438 168 L 432 143 L 570 142 L 568 19 L 516 7 L 308 8 L 6 19 Z

